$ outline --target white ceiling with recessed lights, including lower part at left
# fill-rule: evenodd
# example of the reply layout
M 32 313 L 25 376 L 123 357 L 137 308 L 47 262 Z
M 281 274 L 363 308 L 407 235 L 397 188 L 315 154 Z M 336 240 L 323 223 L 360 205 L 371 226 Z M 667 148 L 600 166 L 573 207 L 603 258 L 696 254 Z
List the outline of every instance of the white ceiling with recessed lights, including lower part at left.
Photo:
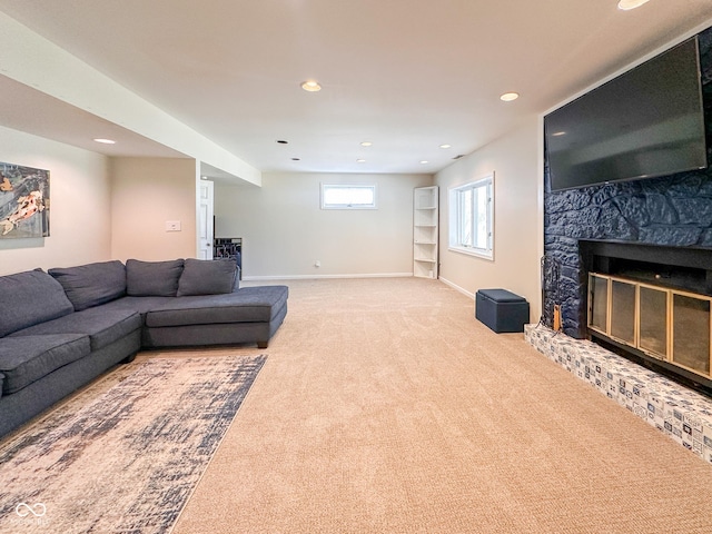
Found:
M 712 0 L 616 1 L 0 0 L 0 11 L 261 171 L 432 174 L 712 23 Z M 303 91 L 307 79 L 323 90 Z M 506 91 L 521 98 L 500 101 Z M 10 128 L 176 156 L 118 126 L 119 144 L 90 146 L 86 127 L 103 119 L 3 77 L 0 92 Z

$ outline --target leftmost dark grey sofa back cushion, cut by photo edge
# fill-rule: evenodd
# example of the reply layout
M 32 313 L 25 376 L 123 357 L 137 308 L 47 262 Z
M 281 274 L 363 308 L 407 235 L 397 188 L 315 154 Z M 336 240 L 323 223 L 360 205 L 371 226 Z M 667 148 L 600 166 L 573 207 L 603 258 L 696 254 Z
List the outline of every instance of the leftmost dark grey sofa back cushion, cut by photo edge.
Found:
M 0 337 L 71 314 L 62 286 L 42 270 L 0 276 Z

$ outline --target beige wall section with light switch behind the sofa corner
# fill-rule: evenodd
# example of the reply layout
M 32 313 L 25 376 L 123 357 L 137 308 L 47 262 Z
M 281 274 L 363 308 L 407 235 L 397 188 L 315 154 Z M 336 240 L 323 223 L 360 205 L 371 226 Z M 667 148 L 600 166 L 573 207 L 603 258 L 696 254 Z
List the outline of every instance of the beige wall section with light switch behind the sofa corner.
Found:
M 196 257 L 194 159 L 111 158 L 111 256 L 157 261 Z M 180 231 L 166 231 L 166 221 Z

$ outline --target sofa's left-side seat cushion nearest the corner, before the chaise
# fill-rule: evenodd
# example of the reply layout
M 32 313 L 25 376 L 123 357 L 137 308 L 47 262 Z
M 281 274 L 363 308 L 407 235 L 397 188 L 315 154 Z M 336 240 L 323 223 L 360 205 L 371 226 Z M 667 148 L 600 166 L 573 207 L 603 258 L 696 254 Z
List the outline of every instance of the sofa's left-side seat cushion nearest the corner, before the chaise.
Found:
M 91 350 L 98 350 L 140 327 L 141 316 L 138 313 L 130 309 L 105 309 L 103 306 L 99 306 L 24 328 L 16 332 L 11 337 L 44 334 L 83 334 L 89 336 Z

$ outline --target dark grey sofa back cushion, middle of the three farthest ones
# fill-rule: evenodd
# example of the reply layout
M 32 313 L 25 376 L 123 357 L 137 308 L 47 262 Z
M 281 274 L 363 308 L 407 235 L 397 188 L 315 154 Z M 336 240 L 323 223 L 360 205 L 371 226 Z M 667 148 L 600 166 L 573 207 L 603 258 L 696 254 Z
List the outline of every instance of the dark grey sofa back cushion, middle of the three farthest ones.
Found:
M 175 297 L 182 274 L 182 259 L 126 261 L 126 294 L 131 297 Z

